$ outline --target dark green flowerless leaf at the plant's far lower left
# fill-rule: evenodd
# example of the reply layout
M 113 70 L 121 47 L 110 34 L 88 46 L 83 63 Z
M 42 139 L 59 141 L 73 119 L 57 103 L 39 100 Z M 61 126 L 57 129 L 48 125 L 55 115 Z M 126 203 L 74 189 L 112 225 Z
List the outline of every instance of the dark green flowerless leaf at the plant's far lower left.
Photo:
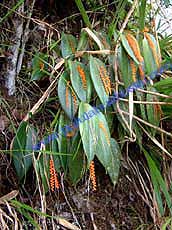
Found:
M 22 122 L 12 143 L 12 157 L 17 176 L 21 181 L 32 165 L 32 148 L 36 143 L 36 131 Z

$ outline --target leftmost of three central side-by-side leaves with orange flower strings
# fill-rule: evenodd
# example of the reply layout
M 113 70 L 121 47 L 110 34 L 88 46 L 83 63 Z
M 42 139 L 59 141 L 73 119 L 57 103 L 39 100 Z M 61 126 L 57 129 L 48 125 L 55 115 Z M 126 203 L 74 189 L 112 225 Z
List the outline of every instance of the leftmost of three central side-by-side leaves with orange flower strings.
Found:
M 71 86 L 67 71 L 65 71 L 59 79 L 58 96 L 62 108 L 66 112 L 67 116 L 72 119 L 78 109 L 78 99 Z

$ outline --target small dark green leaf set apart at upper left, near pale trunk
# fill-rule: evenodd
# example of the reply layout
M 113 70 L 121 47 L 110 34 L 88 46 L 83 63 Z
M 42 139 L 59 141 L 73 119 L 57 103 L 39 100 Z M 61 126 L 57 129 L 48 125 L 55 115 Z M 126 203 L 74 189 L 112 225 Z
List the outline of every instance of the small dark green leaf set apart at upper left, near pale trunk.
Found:
M 48 69 L 48 56 L 44 53 L 35 54 L 32 60 L 32 76 L 31 80 L 36 81 L 44 77 Z

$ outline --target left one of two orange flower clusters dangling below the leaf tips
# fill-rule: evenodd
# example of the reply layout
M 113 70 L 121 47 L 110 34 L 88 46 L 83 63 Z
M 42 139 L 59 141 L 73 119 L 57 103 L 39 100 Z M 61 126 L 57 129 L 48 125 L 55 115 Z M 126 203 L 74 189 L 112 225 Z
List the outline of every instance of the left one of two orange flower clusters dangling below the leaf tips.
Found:
M 59 181 L 58 181 L 58 177 L 57 177 L 57 173 L 54 167 L 54 161 L 51 158 L 50 159 L 50 189 L 52 192 L 54 192 L 54 189 L 59 189 L 60 185 L 59 185 Z

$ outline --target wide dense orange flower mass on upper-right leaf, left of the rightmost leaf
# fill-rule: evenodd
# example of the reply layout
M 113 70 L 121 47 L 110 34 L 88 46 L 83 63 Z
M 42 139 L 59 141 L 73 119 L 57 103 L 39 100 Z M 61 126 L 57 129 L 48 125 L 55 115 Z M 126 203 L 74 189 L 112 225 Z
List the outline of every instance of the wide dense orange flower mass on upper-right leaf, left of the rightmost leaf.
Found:
M 131 34 L 127 34 L 126 35 L 126 39 L 128 41 L 128 44 L 130 45 L 134 55 L 136 56 L 137 60 L 139 62 L 143 62 L 144 59 L 140 53 L 140 48 L 139 48 L 139 45 L 138 45 L 138 42 L 137 40 L 135 39 L 135 37 Z

